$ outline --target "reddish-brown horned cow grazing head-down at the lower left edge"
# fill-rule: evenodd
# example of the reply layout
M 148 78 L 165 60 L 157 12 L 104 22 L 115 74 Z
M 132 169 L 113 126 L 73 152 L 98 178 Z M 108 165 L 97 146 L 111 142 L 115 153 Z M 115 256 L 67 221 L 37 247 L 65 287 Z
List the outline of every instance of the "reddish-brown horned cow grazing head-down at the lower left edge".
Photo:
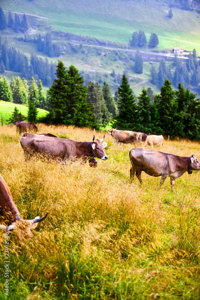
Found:
M 10 189 L 7 186 L 7 183 L 3 179 L 3 177 L 0 175 L 0 215 L 10 219 L 11 224 L 9 226 L 0 225 L 0 228 L 3 231 L 8 231 L 12 229 L 19 229 L 20 227 L 20 233 L 19 233 L 19 239 L 22 238 L 22 235 L 26 234 L 27 238 L 32 237 L 31 228 L 35 228 L 37 226 L 38 222 L 43 221 L 46 216 L 43 218 L 35 217 L 33 220 L 23 220 L 22 217 L 19 214 L 19 211 L 16 207 L 16 205 L 13 202 L 13 197 L 10 193 Z M 25 230 L 25 231 L 24 231 Z

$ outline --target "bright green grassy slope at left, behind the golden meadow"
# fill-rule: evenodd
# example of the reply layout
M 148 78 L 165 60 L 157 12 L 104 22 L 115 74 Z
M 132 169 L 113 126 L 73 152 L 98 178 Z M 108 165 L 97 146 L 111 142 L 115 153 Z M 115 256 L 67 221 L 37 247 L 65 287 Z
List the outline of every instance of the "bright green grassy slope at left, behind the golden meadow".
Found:
M 25 117 L 28 116 L 27 115 L 28 106 L 0 100 L 0 115 L 3 118 L 3 124 L 7 124 L 7 122 L 9 121 L 13 113 L 15 106 L 22 113 L 22 115 L 24 115 Z M 42 110 L 41 108 L 38 108 L 38 111 L 39 111 L 37 114 L 38 120 L 46 116 L 46 114 L 48 113 L 46 110 Z

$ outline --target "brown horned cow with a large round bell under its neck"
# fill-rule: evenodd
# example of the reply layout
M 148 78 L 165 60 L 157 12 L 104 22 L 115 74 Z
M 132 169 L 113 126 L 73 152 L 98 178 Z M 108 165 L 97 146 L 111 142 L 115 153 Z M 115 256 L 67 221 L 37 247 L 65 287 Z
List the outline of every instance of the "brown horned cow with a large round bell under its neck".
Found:
M 75 160 L 84 158 L 85 162 L 88 158 L 100 158 L 106 160 L 108 156 L 103 148 L 107 146 L 103 139 L 95 140 L 93 137 L 92 142 L 78 142 L 75 140 L 61 139 L 59 137 L 44 137 L 42 135 L 25 133 L 20 138 L 20 143 L 24 149 L 25 160 L 30 158 L 34 153 L 45 154 L 52 159 L 60 158 L 61 162 L 66 161 L 68 158 Z M 95 165 L 95 161 L 91 164 Z

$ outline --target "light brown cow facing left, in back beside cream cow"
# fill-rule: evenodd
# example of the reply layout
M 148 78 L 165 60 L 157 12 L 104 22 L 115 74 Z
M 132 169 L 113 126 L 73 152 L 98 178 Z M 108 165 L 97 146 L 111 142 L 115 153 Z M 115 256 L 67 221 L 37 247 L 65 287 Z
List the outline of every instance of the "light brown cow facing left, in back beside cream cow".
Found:
M 142 142 L 142 135 L 140 134 L 140 140 L 138 137 L 138 133 L 135 131 L 127 131 L 127 130 L 117 130 L 116 128 L 110 128 L 108 129 L 108 132 L 112 135 L 114 138 L 114 141 L 117 143 L 123 143 L 123 144 L 128 144 L 128 143 L 135 143 L 135 142 Z

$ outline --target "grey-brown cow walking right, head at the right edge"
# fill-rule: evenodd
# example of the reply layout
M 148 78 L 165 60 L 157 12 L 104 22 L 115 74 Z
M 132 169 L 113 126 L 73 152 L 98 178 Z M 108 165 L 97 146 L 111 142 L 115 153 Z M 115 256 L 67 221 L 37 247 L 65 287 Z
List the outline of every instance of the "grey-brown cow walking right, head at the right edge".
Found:
M 151 176 L 161 176 L 161 187 L 165 179 L 170 177 L 172 192 L 175 192 L 175 179 L 186 171 L 188 174 L 192 174 L 192 171 L 200 171 L 200 163 L 195 155 L 185 157 L 155 150 L 133 148 L 129 152 L 129 157 L 132 164 L 130 169 L 131 180 L 134 179 L 136 174 L 139 182 L 142 183 L 141 173 L 144 171 Z

